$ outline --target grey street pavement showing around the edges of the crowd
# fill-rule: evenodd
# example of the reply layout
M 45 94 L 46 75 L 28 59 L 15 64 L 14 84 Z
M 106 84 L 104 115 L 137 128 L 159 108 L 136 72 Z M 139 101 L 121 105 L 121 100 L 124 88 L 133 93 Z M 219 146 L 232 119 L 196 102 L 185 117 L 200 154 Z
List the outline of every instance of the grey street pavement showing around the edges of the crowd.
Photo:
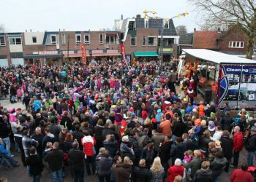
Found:
M 21 102 L 12 104 L 10 103 L 9 100 L 0 100 L 0 104 L 1 106 L 4 106 L 4 108 L 7 108 L 7 109 L 18 108 L 18 107 L 25 108 L 25 106 L 22 105 Z M 22 162 L 20 160 L 20 154 L 18 154 L 18 152 L 15 152 L 15 151 L 12 151 L 12 154 L 14 154 L 15 160 L 17 160 L 20 163 L 20 167 L 10 167 L 9 170 L 6 170 L 4 169 L 4 167 L 0 166 L 0 178 L 3 178 L 3 177 L 7 178 L 9 182 L 33 181 L 33 178 L 26 173 L 26 167 L 23 167 L 22 165 Z M 245 150 L 241 151 L 239 164 L 241 164 L 241 162 L 246 162 L 246 156 L 247 156 L 247 152 Z M 233 171 L 233 168 L 230 168 L 229 173 L 225 173 L 225 171 L 223 171 L 222 175 L 219 178 L 219 181 L 230 181 L 230 174 L 232 173 L 232 171 Z M 42 182 L 51 181 L 50 173 L 45 168 L 42 172 L 41 181 Z M 64 181 L 74 181 L 72 176 L 69 173 L 68 168 L 67 168 L 67 176 L 64 178 Z M 88 176 L 85 170 L 85 181 L 96 182 L 98 181 L 98 178 L 95 176 Z

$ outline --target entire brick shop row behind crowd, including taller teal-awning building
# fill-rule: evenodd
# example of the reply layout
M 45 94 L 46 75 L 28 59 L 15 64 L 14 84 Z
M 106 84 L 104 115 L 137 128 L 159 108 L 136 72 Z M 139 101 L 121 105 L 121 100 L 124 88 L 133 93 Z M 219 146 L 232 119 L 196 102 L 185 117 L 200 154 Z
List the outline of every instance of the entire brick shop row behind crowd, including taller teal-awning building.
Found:
M 162 19 L 135 18 L 115 20 L 116 31 L 45 31 L 0 33 L 0 66 L 24 64 L 62 65 L 80 61 L 80 44 L 86 47 L 86 60 L 121 60 L 120 44 L 128 60 L 158 60 Z M 164 60 L 176 56 L 173 20 L 163 26 Z

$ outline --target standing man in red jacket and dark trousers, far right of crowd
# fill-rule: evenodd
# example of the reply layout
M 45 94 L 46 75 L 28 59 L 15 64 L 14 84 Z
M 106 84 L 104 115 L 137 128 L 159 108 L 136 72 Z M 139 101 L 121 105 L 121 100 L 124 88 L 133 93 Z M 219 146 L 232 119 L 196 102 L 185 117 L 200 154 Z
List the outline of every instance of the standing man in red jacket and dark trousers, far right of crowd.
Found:
M 234 127 L 234 137 L 233 137 L 233 165 L 230 167 L 236 168 L 238 166 L 239 153 L 244 146 L 244 136 L 240 131 L 240 127 Z

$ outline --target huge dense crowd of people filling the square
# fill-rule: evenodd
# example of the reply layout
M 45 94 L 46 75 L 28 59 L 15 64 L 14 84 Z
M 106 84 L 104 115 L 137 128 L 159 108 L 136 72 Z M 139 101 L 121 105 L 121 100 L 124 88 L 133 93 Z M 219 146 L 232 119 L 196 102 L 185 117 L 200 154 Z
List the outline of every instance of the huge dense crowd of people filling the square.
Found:
M 254 181 L 256 114 L 197 103 L 197 71 L 180 78 L 175 65 L 159 74 L 154 62 L 1 68 L 2 97 L 24 105 L 0 106 L 1 165 L 20 166 L 13 146 L 34 181 L 48 170 L 52 181 L 206 182 L 230 167 L 241 167 L 230 181 Z

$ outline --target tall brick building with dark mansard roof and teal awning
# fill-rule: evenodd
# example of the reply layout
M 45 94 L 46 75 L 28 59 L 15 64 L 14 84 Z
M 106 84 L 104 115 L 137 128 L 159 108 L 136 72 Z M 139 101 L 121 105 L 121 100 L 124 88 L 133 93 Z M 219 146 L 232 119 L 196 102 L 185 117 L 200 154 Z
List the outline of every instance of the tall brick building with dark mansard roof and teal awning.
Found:
M 146 19 L 137 15 L 133 18 L 116 20 L 116 29 L 121 33 L 125 51 L 129 60 L 158 60 L 160 53 L 160 39 L 162 33 L 162 19 Z M 178 44 L 173 20 L 163 26 L 163 54 L 164 60 L 176 57 L 173 47 Z

